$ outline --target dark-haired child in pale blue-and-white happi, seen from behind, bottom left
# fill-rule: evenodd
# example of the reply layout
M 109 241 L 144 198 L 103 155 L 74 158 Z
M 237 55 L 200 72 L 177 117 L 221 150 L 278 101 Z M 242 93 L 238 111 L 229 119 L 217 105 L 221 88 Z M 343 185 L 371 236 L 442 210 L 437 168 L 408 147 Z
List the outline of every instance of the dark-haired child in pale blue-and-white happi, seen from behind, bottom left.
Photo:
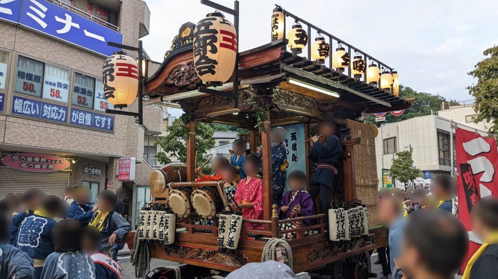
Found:
M 52 229 L 55 252 L 45 260 L 41 279 L 95 279 L 92 258 L 81 251 L 83 226 L 74 219 L 59 221 Z

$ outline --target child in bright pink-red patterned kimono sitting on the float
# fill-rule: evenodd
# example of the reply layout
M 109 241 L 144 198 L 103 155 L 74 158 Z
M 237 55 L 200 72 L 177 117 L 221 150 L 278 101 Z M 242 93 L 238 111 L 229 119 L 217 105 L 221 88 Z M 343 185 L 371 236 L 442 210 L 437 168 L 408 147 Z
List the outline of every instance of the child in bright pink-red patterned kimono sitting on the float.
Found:
M 239 182 L 235 190 L 235 202 L 242 209 L 244 219 L 263 218 L 263 181 L 256 177 L 260 168 L 257 157 L 246 157 L 244 172 L 247 177 Z M 246 223 L 246 228 L 261 230 L 263 225 Z

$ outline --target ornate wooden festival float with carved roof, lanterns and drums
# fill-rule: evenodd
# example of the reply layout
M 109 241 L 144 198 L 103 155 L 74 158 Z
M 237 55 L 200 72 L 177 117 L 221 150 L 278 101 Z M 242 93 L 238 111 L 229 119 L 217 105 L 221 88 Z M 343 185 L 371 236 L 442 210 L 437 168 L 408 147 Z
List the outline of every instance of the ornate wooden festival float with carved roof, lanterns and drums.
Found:
M 216 11 L 197 24 L 181 25 L 157 72 L 140 85 L 143 105 L 181 105 L 189 137 L 185 164 L 172 163 L 151 174 L 153 200 L 142 208 L 134 236 L 137 275 L 148 272 L 144 257 L 151 257 L 184 264 L 152 275 L 176 272 L 183 278 L 225 276 L 268 259 L 289 265 L 296 274 L 376 277 L 370 253 L 387 246 L 387 229 L 378 226 L 374 215 L 376 128 L 358 119 L 411 107 L 413 100 L 398 96 L 397 72 L 280 6 L 268 12 L 269 42 L 239 52 L 244 31 L 238 30 L 238 1 L 233 9 L 208 0 L 201 3 Z M 225 14 L 234 15 L 233 22 Z M 287 172 L 300 169 L 309 178 L 316 165 L 307 159 L 306 141 L 318 134 L 324 119 L 340 127 L 344 149 L 336 165 L 331 209 L 328 214 L 279 220 L 271 202 L 269 131 L 274 126 L 287 130 Z M 249 143 L 248 154 L 261 149 L 263 219 L 245 219 L 232 210 L 218 182 L 193 182 L 195 122 L 250 131 L 241 137 Z M 305 219 L 316 224 L 304 227 Z M 264 229 L 247 229 L 246 222 Z

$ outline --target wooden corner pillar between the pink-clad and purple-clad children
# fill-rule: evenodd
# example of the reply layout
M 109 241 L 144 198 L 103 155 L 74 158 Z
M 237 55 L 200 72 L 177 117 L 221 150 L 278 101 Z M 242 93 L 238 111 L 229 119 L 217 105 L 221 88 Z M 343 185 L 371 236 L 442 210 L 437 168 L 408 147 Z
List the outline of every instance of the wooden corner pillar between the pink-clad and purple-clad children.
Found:
M 270 113 L 266 113 L 268 125 L 261 131 L 261 145 L 263 155 L 263 208 L 264 220 L 271 220 L 273 205 L 273 173 L 271 172 L 271 141 L 270 141 Z

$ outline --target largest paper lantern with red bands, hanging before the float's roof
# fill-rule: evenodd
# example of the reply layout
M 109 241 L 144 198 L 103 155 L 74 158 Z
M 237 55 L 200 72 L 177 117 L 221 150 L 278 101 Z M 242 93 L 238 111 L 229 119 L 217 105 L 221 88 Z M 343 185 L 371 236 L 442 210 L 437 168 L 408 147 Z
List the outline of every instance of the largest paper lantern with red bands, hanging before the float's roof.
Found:
M 194 65 L 206 86 L 221 86 L 234 73 L 237 33 L 223 13 L 208 13 L 194 29 Z

